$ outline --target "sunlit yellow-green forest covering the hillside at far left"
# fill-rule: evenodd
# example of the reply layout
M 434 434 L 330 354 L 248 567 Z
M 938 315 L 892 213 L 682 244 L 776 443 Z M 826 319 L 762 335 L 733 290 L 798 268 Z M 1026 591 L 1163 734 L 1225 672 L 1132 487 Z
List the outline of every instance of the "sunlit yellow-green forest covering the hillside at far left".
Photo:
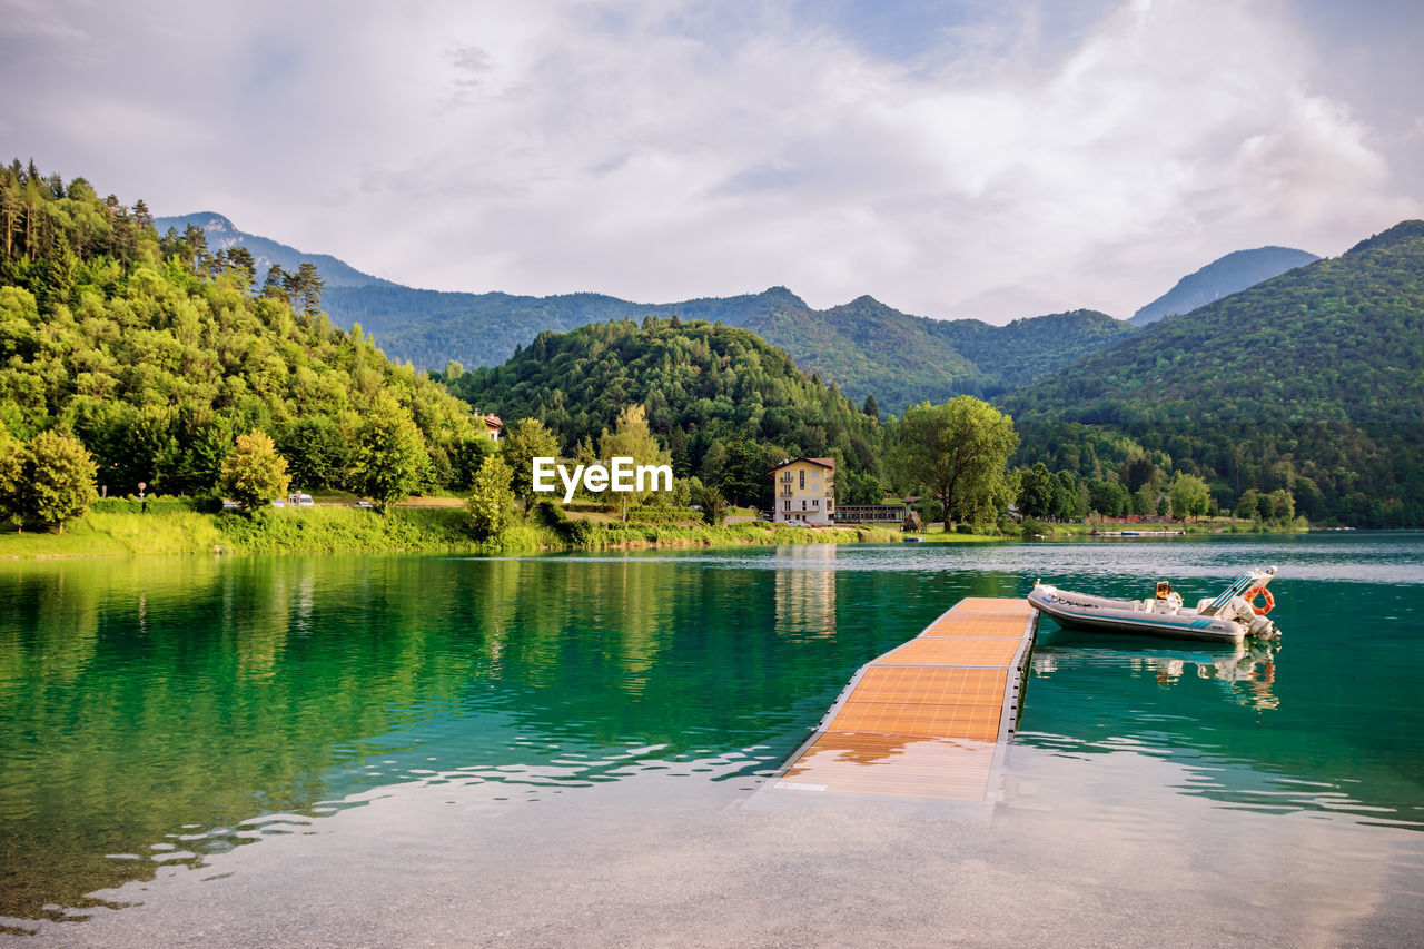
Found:
M 468 408 L 320 312 L 315 266 L 262 286 L 244 248 L 159 235 L 142 201 L 33 162 L 0 167 L 0 439 L 73 433 L 108 494 L 205 493 L 261 430 L 296 487 L 468 483 Z M 390 452 L 400 455 L 392 463 Z

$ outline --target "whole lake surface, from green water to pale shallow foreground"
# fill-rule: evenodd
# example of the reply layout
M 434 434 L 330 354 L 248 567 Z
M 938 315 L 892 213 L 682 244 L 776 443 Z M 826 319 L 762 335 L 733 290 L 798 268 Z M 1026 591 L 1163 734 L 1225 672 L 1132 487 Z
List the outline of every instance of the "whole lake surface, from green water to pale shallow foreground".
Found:
M 854 670 L 1035 577 L 1276 647 L 1040 626 L 997 805 L 743 804 Z M 0 563 L 0 939 L 1400 945 L 1424 534 Z

